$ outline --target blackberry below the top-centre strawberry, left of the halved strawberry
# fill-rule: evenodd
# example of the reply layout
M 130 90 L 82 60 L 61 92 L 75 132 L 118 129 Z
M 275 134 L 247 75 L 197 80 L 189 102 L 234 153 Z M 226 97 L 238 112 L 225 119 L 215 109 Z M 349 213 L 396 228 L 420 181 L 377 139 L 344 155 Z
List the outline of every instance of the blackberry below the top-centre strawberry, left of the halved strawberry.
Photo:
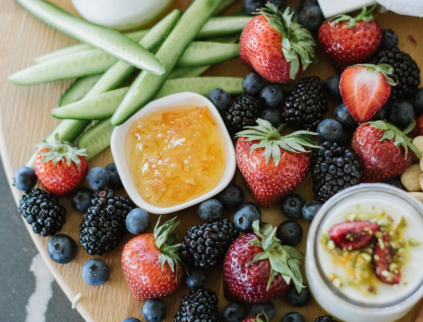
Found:
M 282 116 L 291 126 L 315 131 L 326 112 L 323 81 L 317 76 L 311 76 L 301 79 L 288 96 Z

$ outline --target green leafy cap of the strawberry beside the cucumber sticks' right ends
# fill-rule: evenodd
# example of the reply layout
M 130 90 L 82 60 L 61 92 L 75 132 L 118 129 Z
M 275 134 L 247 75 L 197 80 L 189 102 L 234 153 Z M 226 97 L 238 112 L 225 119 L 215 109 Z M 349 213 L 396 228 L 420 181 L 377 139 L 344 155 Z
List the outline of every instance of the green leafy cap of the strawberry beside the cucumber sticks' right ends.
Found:
M 290 77 L 292 79 L 298 73 L 300 60 L 302 70 L 306 70 L 310 63 L 315 63 L 313 46 L 316 42 L 306 28 L 292 21 L 293 13 L 290 8 L 281 13 L 275 5 L 267 3 L 256 14 L 263 15 L 282 38 L 282 52 L 287 62 L 291 62 Z

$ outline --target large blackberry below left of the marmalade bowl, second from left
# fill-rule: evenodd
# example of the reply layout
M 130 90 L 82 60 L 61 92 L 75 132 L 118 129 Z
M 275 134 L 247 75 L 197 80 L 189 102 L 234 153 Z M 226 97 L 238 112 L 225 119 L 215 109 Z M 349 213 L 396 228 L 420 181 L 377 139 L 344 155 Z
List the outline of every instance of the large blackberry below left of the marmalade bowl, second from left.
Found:
M 134 208 L 126 197 L 113 190 L 99 190 L 84 213 L 79 230 L 80 244 L 90 255 L 102 255 L 115 249 L 126 232 L 126 216 Z

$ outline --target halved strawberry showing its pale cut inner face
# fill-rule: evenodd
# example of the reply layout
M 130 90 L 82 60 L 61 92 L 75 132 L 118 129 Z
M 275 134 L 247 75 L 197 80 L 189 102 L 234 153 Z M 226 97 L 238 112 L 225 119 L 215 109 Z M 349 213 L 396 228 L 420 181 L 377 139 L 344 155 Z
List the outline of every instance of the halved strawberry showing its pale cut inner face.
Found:
M 388 101 L 391 86 L 396 85 L 388 76 L 393 71 L 388 64 L 363 64 L 342 72 L 339 91 L 348 112 L 357 122 L 369 121 Z

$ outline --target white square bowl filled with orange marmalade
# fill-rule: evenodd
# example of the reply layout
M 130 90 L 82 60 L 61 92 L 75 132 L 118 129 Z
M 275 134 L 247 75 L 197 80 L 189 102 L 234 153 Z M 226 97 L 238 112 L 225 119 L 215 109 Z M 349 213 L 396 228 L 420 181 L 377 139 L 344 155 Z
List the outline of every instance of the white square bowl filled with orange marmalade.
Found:
M 150 213 L 175 212 L 223 190 L 236 169 L 235 150 L 218 110 L 196 93 L 152 101 L 111 137 L 123 186 Z

